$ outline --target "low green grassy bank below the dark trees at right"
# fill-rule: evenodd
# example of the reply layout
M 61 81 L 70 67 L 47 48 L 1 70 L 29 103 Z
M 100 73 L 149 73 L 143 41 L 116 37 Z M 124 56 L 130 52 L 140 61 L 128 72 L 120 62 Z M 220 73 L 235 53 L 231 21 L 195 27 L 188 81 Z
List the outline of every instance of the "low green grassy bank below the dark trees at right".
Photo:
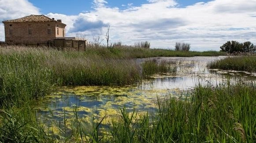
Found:
M 208 68 L 256 72 L 256 56 L 226 57 L 208 64 Z

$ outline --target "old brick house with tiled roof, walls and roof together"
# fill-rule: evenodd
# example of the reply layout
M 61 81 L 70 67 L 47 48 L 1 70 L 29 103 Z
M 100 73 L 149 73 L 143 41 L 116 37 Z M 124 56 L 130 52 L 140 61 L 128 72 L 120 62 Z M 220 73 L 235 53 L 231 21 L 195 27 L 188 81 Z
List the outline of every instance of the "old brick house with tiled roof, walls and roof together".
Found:
M 65 37 L 66 25 L 45 15 L 30 15 L 3 23 L 7 44 L 47 44 L 49 40 Z

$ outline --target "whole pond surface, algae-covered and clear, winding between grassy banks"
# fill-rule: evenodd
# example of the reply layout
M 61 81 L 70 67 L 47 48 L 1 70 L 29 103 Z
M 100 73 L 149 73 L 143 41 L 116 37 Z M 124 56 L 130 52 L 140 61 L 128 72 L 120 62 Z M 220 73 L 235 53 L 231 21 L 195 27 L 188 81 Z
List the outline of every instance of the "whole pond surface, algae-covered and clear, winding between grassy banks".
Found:
M 65 118 L 71 121 L 77 113 L 78 118 L 88 123 L 100 120 L 105 116 L 104 125 L 109 125 L 111 119 L 119 114 L 120 108 L 136 111 L 139 114 L 157 111 L 157 98 L 166 95 L 179 97 L 186 90 L 196 85 L 210 84 L 212 86 L 225 84 L 227 81 L 255 80 L 253 75 L 243 72 L 209 70 L 207 63 L 224 57 L 155 57 L 137 59 L 175 61 L 177 67 L 174 75 L 153 75 L 148 80 L 134 86 L 76 86 L 62 87 L 57 93 L 48 95 L 37 105 L 37 114 L 45 124 L 54 128 L 57 122 Z M 65 114 L 65 117 L 64 117 Z M 69 123 L 71 124 L 71 123 Z

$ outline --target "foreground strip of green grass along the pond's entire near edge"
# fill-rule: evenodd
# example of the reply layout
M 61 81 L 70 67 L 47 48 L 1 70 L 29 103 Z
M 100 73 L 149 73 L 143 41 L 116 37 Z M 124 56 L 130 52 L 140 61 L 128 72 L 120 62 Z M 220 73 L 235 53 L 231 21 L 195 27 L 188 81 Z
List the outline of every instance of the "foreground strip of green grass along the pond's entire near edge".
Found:
M 74 110 L 56 128 L 37 120 L 30 107 L 4 108 L 0 141 L 90 143 L 254 143 L 256 140 L 256 86 L 254 83 L 213 87 L 198 85 L 180 98 L 158 99 L 155 114 L 120 109 L 109 127 L 99 118 L 89 132 Z M 55 134 L 53 134 L 53 130 Z M 57 132 L 57 133 L 56 133 Z

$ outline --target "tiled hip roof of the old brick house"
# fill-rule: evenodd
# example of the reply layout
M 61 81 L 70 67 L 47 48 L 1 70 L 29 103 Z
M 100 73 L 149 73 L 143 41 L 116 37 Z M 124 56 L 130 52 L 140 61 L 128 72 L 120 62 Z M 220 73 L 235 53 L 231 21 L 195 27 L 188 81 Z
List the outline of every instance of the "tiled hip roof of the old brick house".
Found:
M 30 16 L 26 16 L 23 18 L 6 20 L 3 22 L 51 22 L 51 21 L 55 21 L 55 20 L 53 20 L 52 18 L 48 18 L 45 15 L 30 15 Z M 58 21 L 56 21 L 56 22 L 58 22 Z

